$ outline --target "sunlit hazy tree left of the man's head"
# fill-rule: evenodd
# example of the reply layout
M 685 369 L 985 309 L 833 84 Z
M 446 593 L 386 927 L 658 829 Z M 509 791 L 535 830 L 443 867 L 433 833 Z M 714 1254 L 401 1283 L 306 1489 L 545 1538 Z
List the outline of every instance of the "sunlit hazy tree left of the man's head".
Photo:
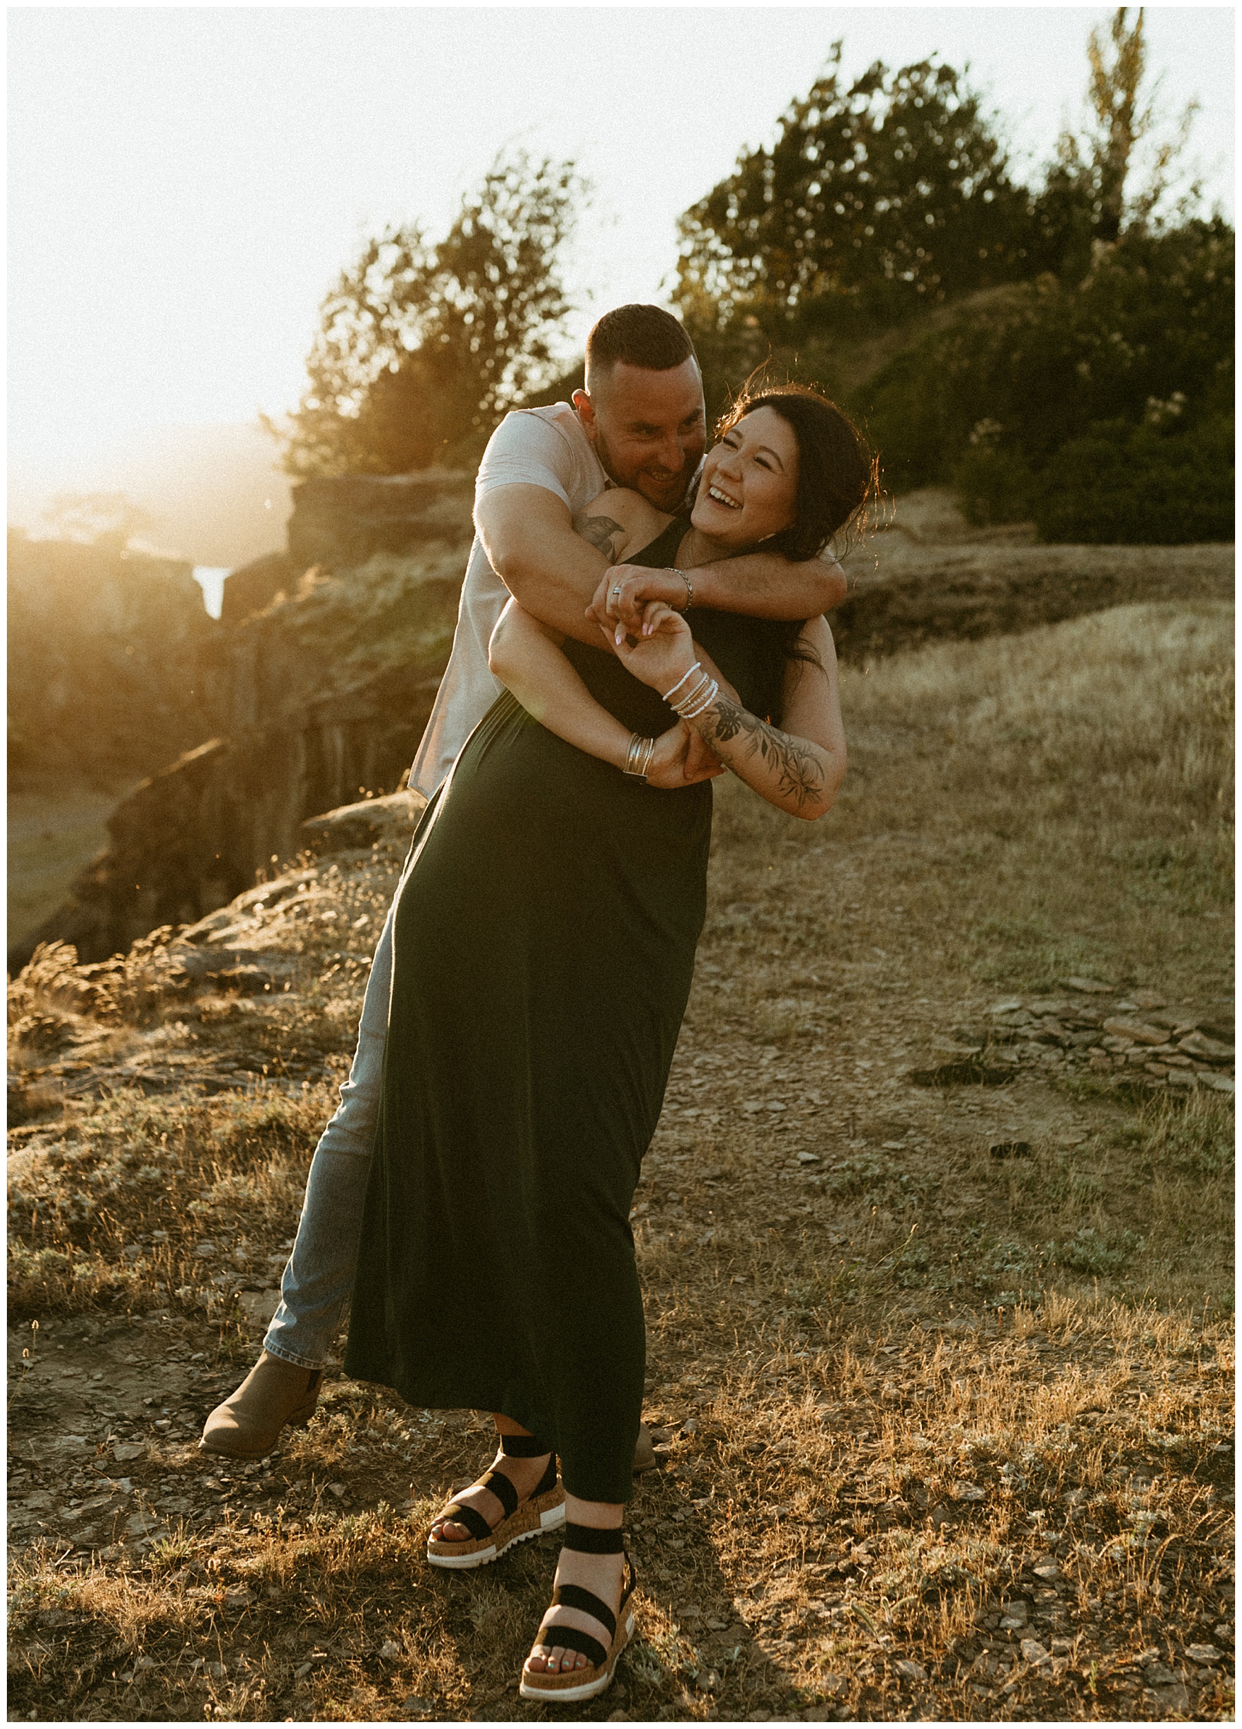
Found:
M 557 368 L 559 254 L 586 194 L 573 163 L 496 157 L 431 244 L 417 223 L 367 242 L 325 297 L 284 467 L 403 474 L 451 458 Z

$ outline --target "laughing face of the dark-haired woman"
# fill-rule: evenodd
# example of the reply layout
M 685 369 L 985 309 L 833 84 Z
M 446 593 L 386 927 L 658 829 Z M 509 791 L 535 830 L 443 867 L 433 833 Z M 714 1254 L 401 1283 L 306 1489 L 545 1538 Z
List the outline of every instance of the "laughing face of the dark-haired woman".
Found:
M 728 546 L 789 527 L 797 496 L 797 437 L 775 408 L 756 408 L 704 460 L 690 522 Z

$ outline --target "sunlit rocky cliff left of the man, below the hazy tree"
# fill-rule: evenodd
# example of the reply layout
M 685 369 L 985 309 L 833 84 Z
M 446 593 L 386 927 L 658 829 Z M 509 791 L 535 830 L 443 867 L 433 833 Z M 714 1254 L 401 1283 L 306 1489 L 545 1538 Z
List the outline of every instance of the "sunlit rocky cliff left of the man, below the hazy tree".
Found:
M 289 552 L 225 583 L 194 749 L 116 807 L 109 849 L 10 967 L 40 941 L 99 961 L 194 923 L 304 849 L 308 818 L 398 787 L 448 659 L 471 501 L 448 470 L 294 491 Z

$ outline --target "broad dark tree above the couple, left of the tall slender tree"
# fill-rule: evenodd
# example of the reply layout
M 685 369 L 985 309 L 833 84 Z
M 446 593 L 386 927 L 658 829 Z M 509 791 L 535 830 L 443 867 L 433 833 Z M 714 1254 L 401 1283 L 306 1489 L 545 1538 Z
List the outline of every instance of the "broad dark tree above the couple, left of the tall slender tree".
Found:
M 1021 271 L 1029 201 L 958 73 L 879 61 L 829 71 L 680 223 L 678 303 L 692 327 L 777 335 L 842 306 L 893 320 Z

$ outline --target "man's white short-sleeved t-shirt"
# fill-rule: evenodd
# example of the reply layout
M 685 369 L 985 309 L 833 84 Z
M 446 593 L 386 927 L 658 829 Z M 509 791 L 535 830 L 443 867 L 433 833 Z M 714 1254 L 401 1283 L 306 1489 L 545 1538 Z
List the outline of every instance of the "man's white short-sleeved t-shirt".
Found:
M 474 501 L 498 486 L 543 486 L 576 515 L 609 484 L 571 403 L 517 408 L 505 415 L 488 441 L 474 482 Z M 488 564 L 474 536 L 462 583 L 453 652 L 439 683 L 436 705 L 410 769 L 410 785 L 431 797 L 457 756 L 502 692 L 488 667 L 488 643 L 505 609 L 509 590 Z

